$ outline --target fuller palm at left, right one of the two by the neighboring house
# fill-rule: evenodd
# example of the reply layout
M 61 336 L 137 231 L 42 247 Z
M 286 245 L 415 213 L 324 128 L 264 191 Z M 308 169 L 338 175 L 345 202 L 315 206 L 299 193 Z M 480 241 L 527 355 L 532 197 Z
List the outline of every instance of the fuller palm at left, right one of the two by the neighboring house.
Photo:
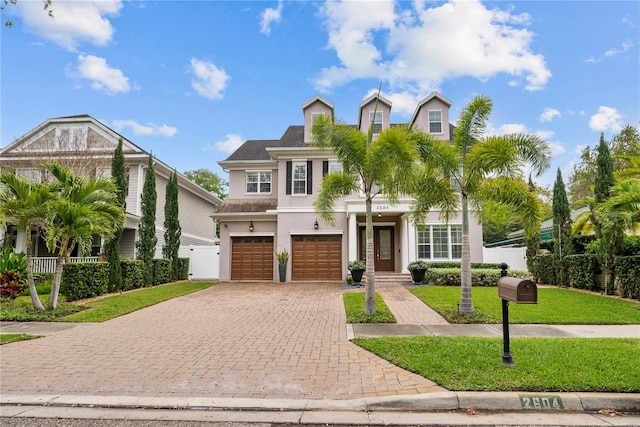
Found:
M 75 176 L 55 162 L 47 163 L 46 167 L 57 180 L 52 184 L 57 197 L 46 206 L 48 227 L 45 230 L 49 251 L 57 252 L 48 305 L 49 309 L 54 309 L 58 303 L 62 267 L 76 245 L 82 253 L 87 253 L 94 235 L 110 238 L 122 229 L 125 214 L 110 178 Z

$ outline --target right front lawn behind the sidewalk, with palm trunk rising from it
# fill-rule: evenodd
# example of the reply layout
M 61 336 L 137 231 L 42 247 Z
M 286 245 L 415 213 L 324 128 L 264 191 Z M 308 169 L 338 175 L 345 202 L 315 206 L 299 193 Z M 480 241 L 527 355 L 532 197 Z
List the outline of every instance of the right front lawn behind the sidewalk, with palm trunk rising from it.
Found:
M 409 289 L 449 323 L 501 323 L 502 303 L 497 287 L 474 287 L 477 318 L 458 315 L 460 288 L 425 286 Z M 640 303 L 571 289 L 538 288 L 538 304 L 509 303 L 509 323 L 565 325 L 640 324 Z

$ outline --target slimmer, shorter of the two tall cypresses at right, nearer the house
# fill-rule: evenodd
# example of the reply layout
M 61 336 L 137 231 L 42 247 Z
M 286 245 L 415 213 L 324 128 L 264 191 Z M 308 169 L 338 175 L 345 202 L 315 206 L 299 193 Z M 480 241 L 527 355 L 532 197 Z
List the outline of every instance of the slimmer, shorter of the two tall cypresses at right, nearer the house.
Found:
M 571 255 L 571 207 L 560 168 L 553 185 L 553 241 L 556 285 L 566 287 L 569 286 L 567 255 Z

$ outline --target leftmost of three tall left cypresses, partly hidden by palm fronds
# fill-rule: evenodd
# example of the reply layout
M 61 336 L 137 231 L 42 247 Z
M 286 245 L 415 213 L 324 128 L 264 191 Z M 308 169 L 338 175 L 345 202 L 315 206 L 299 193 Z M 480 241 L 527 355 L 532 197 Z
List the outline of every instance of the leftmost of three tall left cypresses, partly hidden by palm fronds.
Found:
M 111 178 L 116 184 L 117 203 L 126 210 L 127 203 L 127 179 L 124 170 L 124 154 L 122 152 L 122 139 L 118 141 L 116 151 L 111 159 Z M 109 291 L 122 290 L 122 270 L 120 268 L 120 239 L 122 229 L 117 230 L 113 238 L 105 243 L 104 251 L 109 262 Z

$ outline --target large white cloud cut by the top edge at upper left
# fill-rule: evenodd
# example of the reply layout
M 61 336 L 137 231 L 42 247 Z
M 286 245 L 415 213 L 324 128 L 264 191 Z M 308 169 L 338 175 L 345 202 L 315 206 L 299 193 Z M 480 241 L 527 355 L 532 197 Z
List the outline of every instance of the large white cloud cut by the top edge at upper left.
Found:
M 43 12 L 41 1 L 21 0 L 16 7 L 28 31 L 75 51 L 81 42 L 95 46 L 106 46 L 111 42 L 114 30 L 106 17 L 117 16 L 122 2 L 54 1 L 51 6 L 53 18 Z

